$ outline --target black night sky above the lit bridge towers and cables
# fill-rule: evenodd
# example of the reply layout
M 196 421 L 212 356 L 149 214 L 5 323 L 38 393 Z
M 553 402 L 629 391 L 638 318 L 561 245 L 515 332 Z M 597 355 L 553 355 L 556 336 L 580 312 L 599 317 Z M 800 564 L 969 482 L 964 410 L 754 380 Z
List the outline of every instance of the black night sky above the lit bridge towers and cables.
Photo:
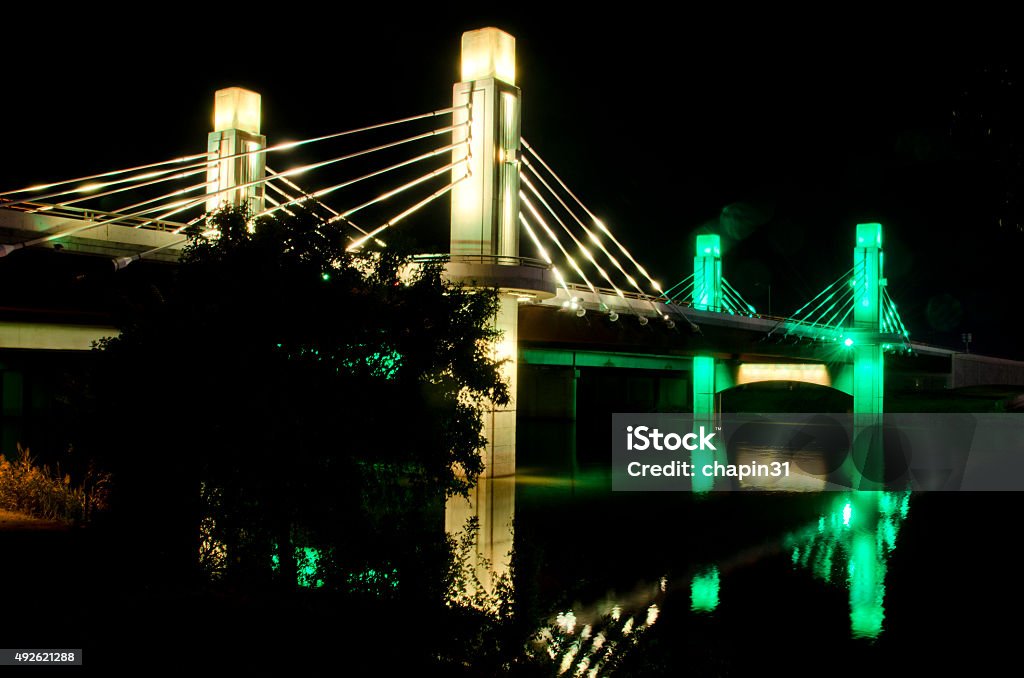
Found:
M 517 39 L 523 135 L 666 287 L 717 230 L 733 286 L 767 311 L 770 285 L 788 314 L 850 267 L 854 224 L 880 221 L 912 338 L 972 332 L 972 350 L 1024 358 L 1021 57 L 842 17 L 397 13 L 7 31 L 0 188 L 199 152 L 230 85 L 262 94 L 271 143 L 444 108 L 462 31 L 497 26 Z M 442 241 L 429 216 L 401 227 Z

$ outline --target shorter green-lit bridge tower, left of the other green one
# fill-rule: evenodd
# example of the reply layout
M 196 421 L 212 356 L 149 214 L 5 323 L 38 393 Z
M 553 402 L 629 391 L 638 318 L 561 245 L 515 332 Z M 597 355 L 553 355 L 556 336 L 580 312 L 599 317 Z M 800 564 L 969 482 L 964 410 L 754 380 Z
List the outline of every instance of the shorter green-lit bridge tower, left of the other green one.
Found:
M 722 309 L 722 239 L 717 235 L 697 236 L 696 255 L 693 257 L 693 307 L 699 310 Z M 715 429 L 718 397 L 715 388 L 715 356 L 693 356 L 693 430 L 702 426 Z M 703 466 L 713 460 L 711 451 L 694 451 L 693 463 Z M 707 457 L 707 459 L 705 458 Z M 711 490 L 714 478 L 697 476 L 693 489 Z

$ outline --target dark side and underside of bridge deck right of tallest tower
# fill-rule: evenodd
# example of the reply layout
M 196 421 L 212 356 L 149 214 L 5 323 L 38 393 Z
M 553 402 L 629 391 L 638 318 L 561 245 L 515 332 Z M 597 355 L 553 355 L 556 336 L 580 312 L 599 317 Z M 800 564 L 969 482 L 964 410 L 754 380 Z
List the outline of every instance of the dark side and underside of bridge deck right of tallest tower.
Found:
M 697 332 L 678 321 L 673 328 L 656 320 L 641 326 L 636 317 L 625 314 L 611 322 L 606 313 L 587 312 L 580 317 L 555 305 L 525 304 L 519 309 L 519 346 L 547 351 L 550 356 L 544 362 L 552 365 L 571 361 L 575 354 L 578 367 L 688 372 L 694 355 L 712 355 L 718 366 L 718 391 L 755 382 L 790 381 L 852 392 L 853 353 L 844 347 L 767 336 L 775 322 L 766 319 L 685 312 L 698 325 Z M 1009 392 L 1024 388 L 1024 363 L 924 345 L 913 348 L 911 354 L 887 356 L 887 389 L 934 392 L 995 386 Z M 560 355 L 555 357 L 556 353 Z M 529 363 L 528 352 L 523 359 Z M 536 364 L 538 355 L 532 359 Z

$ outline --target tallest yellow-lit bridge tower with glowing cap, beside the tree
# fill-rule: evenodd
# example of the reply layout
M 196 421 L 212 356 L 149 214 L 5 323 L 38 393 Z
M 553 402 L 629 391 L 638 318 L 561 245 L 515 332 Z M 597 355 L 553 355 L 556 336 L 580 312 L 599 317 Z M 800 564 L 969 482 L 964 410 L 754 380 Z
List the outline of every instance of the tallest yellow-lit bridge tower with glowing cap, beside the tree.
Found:
M 484 417 L 484 475 L 515 473 L 516 373 L 520 299 L 552 297 L 544 266 L 519 257 L 519 109 L 515 38 L 494 28 L 462 36 L 462 82 L 455 85 L 450 280 L 501 290 L 497 357 L 512 401 Z M 464 142 L 464 143 L 460 143 Z M 466 176 L 468 172 L 468 176 Z

